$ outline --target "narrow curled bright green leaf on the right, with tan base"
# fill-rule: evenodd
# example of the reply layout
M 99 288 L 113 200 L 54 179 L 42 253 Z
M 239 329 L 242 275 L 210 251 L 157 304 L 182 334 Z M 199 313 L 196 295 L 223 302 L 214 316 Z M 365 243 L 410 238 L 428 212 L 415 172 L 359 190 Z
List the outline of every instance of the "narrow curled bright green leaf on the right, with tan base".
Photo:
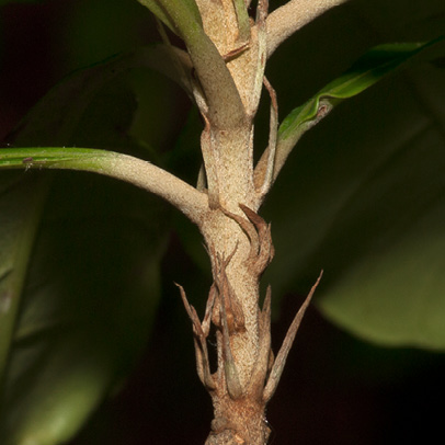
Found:
M 274 176 L 278 174 L 299 138 L 327 116 L 333 107 L 374 85 L 414 56 L 435 45 L 441 45 L 443 48 L 443 44 L 444 38 L 440 37 L 423 44 L 376 46 L 362 56 L 344 75 L 328 83 L 305 104 L 293 110 L 278 128 Z

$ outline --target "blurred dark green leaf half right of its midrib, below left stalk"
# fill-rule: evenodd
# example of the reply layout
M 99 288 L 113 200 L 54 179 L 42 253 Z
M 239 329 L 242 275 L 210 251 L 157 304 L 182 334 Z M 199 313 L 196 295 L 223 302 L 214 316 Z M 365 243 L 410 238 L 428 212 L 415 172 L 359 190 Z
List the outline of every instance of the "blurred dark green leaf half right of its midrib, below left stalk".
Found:
M 132 369 L 159 298 L 161 203 L 100 176 L 59 176 L 2 390 L 2 444 L 69 440 Z

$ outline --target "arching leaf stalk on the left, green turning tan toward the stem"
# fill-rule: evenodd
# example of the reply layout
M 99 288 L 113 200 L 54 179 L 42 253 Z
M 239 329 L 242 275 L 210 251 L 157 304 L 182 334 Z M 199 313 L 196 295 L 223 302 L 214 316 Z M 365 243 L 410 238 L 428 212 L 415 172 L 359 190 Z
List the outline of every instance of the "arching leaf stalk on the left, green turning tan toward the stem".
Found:
M 173 174 L 141 159 L 88 148 L 14 148 L 0 150 L 0 169 L 58 169 L 90 171 L 129 182 L 151 192 L 198 222 L 207 195 Z

